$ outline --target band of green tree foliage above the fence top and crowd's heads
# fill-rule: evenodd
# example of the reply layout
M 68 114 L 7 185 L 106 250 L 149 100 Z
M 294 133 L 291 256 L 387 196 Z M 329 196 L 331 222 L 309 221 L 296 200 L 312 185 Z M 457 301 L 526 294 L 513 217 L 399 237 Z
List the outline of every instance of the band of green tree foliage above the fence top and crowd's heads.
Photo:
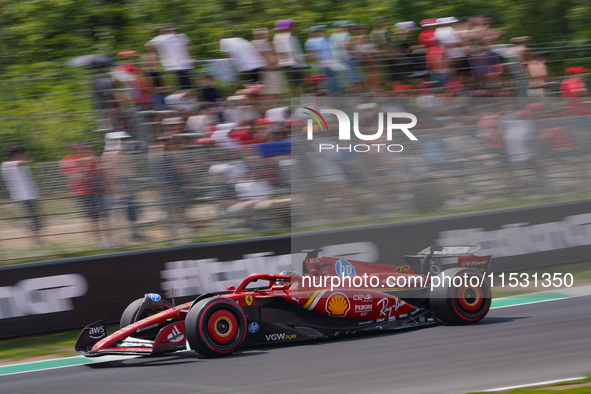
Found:
M 585 0 L 0 0 L 0 9 L 5 67 L 141 48 L 171 22 L 189 35 L 200 58 L 215 57 L 223 35 L 249 36 L 251 29 L 287 18 L 308 26 L 488 14 L 509 36 L 591 38 L 591 3 Z

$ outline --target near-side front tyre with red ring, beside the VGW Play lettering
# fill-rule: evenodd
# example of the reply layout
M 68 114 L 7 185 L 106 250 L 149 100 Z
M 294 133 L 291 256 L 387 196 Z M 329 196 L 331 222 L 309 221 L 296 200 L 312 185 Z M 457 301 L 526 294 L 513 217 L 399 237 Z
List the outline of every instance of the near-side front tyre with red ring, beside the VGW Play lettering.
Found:
M 246 337 L 246 317 L 227 298 L 206 298 L 197 302 L 185 319 L 191 349 L 205 357 L 234 353 Z

